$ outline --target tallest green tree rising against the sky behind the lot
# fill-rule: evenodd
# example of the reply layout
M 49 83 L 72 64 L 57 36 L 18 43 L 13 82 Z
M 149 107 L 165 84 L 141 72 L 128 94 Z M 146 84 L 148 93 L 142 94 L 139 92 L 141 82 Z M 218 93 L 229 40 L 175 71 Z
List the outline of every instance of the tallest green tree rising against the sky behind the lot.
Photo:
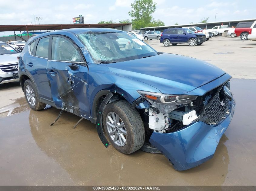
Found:
M 138 30 L 142 27 L 148 27 L 153 21 L 152 13 L 155 12 L 156 3 L 153 0 L 135 0 L 131 4 L 131 10 L 128 12 L 132 19 L 132 27 Z

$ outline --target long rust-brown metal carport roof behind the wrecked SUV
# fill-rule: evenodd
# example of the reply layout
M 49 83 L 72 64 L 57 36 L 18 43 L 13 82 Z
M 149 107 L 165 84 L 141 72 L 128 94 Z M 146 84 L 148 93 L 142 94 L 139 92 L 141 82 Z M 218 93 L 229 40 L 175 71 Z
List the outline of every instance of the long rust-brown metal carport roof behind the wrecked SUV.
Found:
M 70 28 L 115 28 L 129 25 L 131 23 L 113 24 L 28 24 L 28 25 L 0 25 L 0 32 L 6 31 L 29 31 L 29 30 L 61 30 Z

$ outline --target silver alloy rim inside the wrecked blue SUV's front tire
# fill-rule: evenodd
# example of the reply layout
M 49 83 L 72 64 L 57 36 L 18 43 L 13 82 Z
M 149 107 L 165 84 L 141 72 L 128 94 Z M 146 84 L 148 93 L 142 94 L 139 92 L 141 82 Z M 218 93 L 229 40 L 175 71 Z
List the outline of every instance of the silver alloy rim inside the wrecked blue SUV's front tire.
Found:
M 127 142 L 127 132 L 125 124 L 118 114 L 110 112 L 106 118 L 107 129 L 111 139 L 120 147 L 125 146 Z

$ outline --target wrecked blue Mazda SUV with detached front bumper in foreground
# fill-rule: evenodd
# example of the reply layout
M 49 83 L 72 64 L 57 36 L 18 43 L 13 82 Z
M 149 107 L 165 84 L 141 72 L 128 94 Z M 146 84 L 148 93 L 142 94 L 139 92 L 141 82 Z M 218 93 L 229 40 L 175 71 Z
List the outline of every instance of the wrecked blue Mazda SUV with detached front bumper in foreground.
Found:
M 28 40 L 18 59 L 33 110 L 49 104 L 88 119 L 105 147 L 162 153 L 176 170 L 212 158 L 234 114 L 230 75 L 157 52 L 121 30 L 43 33 Z

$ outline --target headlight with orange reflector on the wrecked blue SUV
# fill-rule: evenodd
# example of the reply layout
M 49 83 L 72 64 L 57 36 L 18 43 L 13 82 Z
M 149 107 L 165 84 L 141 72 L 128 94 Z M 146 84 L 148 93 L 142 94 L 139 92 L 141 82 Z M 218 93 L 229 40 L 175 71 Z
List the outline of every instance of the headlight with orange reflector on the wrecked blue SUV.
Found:
M 141 90 L 137 90 L 137 92 L 162 113 L 169 113 L 197 98 L 197 96 L 194 95 L 161 94 Z

